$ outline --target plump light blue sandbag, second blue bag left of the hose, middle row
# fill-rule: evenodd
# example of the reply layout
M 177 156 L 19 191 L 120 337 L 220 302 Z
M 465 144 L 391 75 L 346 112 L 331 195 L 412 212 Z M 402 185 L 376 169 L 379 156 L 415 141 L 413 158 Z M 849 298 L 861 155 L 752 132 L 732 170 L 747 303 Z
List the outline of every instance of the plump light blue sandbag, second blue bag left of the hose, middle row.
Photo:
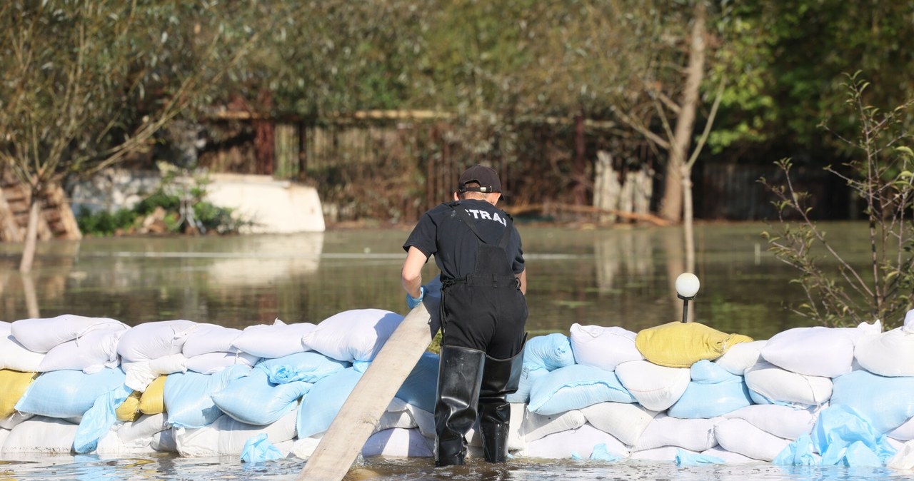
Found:
M 266 370 L 255 368 L 247 376 L 228 382 L 226 387 L 214 392 L 212 399 L 219 410 L 231 418 L 265 426 L 292 413 L 312 385 L 304 381 L 276 384 L 270 381 Z

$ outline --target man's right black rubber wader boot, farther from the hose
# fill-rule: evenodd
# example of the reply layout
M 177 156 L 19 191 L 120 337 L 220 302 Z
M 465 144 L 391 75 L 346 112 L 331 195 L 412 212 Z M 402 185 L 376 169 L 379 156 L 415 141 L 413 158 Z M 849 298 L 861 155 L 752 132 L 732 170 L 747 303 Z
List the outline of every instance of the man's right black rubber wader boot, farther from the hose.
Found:
M 517 391 L 523 363 L 523 348 L 511 359 L 485 359 L 479 392 L 479 431 L 485 460 L 490 463 L 504 463 L 507 459 L 511 405 L 505 396 Z

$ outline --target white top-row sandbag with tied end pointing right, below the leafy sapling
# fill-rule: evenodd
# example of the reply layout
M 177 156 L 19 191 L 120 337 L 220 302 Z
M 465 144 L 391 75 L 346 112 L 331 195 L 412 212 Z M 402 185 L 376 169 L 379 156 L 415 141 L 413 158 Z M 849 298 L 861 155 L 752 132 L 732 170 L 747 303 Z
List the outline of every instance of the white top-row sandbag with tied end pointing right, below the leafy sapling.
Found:
M 853 369 L 854 345 L 866 335 L 877 335 L 882 324 L 862 323 L 856 328 L 793 328 L 783 330 L 765 344 L 761 357 L 787 371 L 834 378 Z

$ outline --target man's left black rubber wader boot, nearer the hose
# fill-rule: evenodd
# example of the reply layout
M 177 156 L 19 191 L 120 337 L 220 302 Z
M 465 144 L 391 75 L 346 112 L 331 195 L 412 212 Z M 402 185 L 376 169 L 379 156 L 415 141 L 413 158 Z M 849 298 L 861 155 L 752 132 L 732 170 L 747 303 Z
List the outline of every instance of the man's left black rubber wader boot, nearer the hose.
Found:
M 435 431 L 438 445 L 435 465 L 462 465 L 466 457 L 465 434 L 476 422 L 476 403 L 483 380 L 485 352 L 453 346 L 441 347 Z

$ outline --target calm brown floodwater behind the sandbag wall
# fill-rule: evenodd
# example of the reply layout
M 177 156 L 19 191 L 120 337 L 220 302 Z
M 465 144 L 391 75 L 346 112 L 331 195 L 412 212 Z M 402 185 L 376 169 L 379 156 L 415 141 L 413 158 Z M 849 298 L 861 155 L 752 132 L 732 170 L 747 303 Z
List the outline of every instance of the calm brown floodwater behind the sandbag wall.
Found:
M 796 273 L 758 248 L 765 228 L 696 226 L 702 287 L 690 302 L 694 319 L 756 339 L 803 325 L 804 319 L 783 308 L 801 300 L 802 292 L 789 282 Z M 846 246 L 866 252 L 852 229 L 835 228 L 845 234 Z M 640 330 L 681 319 L 674 289 L 675 277 L 685 270 L 681 229 L 520 230 L 531 335 L 567 333 L 575 322 Z M 41 317 L 73 313 L 131 325 L 190 319 L 243 328 L 277 318 L 320 322 L 350 308 L 405 312 L 399 268 L 408 234 L 364 229 L 46 242 L 38 246 L 30 277 L 16 270 L 21 246 L 0 244 L 0 319 L 36 317 L 37 311 Z M 430 262 L 423 277 L 435 275 Z

